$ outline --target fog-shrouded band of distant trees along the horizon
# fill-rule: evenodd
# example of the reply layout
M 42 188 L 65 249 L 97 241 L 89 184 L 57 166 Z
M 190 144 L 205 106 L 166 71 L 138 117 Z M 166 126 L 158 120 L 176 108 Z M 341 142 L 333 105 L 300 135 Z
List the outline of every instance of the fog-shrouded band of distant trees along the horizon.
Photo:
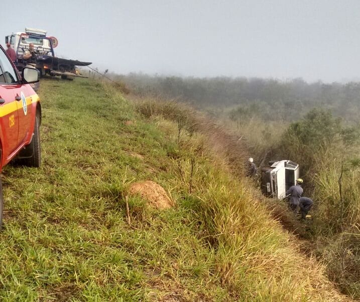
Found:
M 195 78 L 150 76 L 141 73 L 116 76 L 137 95 L 162 96 L 189 102 L 197 108 L 220 108 L 229 117 L 257 116 L 266 120 L 293 121 L 311 108 L 325 107 L 337 116 L 357 121 L 360 83 L 307 83 L 262 78 Z

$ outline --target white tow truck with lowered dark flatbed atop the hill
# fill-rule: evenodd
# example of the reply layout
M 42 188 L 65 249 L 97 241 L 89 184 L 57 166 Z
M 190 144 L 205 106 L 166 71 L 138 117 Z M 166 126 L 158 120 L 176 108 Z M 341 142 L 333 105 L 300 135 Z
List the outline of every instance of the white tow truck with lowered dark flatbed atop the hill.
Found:
M 14 62 L 18 70 L 27 66 L 28 61 L 23 58 L 24 53 L 29 50 L 29 44 L 34 44 L 34 50 L 37 53 L 36 62 L 34 63 L 40 76 L 61 76 L 62 79 L 68 77 L 86 77 L 79 74 L 76 66 L 88 66 L 91 62 L 81 62 L 78 60 L 69 60 L 55 56 L 54 48 L 57 47 L 57 39 L 47 37 L 47 32 L 41 29 L 26 28 L 25 33 L 12 33 L 5 37 L 5 42 L 10 43 L 14 48 L 17 59 Z

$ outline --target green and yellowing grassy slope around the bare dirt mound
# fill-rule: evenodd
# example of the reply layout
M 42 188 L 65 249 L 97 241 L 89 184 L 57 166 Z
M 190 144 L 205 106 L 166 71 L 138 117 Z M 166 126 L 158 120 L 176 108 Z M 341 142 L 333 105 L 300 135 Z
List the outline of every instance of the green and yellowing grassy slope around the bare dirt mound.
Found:
M 3 175 L 1 300 L 347 300 L 189 112 L 87 80 L 43 80 L 39 94 L 42 167 Z M 128 198 L 141 180 L 176 206 Z

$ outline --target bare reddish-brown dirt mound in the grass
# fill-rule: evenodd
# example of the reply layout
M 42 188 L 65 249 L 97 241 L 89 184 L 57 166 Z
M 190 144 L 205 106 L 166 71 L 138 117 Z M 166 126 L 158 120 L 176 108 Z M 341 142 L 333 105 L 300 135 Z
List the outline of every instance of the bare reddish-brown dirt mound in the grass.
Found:
M 152 181 L 133 183 L 128 192 L 130 195 L 139 194 L 156 209 L 169 209 L 174 206 L 174 202 L 168 197 L 164 188 Z

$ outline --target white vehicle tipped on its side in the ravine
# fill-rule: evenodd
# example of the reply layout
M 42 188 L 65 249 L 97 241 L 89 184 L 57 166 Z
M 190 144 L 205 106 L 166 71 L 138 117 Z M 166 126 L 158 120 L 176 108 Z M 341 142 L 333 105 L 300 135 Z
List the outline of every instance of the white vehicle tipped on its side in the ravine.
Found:
M 286 191 L 299 178 L 299 165 L 283 160 L 269 162 L 268 168 L 261 169 L 261 191 L 265 196 L 283 199 Z

